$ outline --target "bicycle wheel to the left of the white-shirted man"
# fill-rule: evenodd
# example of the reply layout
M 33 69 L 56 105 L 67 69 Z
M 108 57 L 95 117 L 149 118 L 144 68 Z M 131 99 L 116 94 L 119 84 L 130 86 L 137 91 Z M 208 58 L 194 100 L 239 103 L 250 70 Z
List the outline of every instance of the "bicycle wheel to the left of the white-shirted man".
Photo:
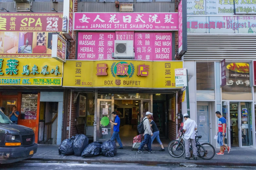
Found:
M 168 152 L 174 158 L 179 158 L 185 153 L 185 146 L 178 140 L 173 140 L 168 145 Z

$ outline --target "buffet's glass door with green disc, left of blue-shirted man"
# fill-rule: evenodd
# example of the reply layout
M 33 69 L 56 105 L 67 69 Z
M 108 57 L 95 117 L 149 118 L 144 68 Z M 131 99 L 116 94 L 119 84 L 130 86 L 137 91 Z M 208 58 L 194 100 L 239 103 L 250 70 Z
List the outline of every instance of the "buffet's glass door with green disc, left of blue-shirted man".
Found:
M 114 120 L 111 114 L 113 111 L 114 100 L 97 100 L 97 141 L 105 141 L 111 138 L 113 124 L 111 124 L 109 120 Z

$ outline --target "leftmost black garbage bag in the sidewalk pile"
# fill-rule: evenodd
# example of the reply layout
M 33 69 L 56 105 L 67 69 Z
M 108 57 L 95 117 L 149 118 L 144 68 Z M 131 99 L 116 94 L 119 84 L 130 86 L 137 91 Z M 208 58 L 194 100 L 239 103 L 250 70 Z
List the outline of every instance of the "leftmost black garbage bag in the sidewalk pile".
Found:
M 73 155 L 73 141 L 75 139 L 75 136 L 72 136 L 70 139 L 65 139 L 62 141 L 60 147 L 59 147 L 59 155 Z

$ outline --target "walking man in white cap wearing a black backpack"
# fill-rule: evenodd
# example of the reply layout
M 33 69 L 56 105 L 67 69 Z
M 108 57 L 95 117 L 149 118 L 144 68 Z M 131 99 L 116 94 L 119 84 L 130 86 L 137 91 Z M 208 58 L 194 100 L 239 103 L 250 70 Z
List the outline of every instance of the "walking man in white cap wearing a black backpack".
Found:
M 149 120 L 148 120 L 151 117 L 151 115 L 153 115 L 153 113 L 146 112 L 146 117 L 138 125 L 139 134 L 143 134 L 143 136 L 144 136 L 144 140 L 140 143 L 140 146 L 138 148 L 138 153 L 145 153 L 145 152 L 142 151 L 142 149 L 146 144 L 147 144 L 147 147 L 148 147 L 148 153 L 155 153 L 155 151 L 152 151 L 152 149 L 151 149 L 151 141 L 152 141 L 151 136 L 153 136 L 153 133 L 150 129 L 150 123 L 149 123 Z

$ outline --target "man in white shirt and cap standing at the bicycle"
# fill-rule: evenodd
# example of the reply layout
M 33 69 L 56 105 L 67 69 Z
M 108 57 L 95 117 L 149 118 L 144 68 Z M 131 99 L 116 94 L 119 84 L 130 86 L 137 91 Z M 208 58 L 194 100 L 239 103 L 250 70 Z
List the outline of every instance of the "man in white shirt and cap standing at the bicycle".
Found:
M 188 113 L 185 113 L 184 119 L 186 120 L 183 125 L 183 130 L 185 132 L 184 139 L 185 139 L 185 151 L 186 151 L 186 160 L 190 160 L 190 151 L 189 147 L 190 144 L 192 146 L 194 160 L 197 160 L 197 152 L 195 146 L 195 130 L 197 129 L 197 125 L 194 120 L 189 118 Z

